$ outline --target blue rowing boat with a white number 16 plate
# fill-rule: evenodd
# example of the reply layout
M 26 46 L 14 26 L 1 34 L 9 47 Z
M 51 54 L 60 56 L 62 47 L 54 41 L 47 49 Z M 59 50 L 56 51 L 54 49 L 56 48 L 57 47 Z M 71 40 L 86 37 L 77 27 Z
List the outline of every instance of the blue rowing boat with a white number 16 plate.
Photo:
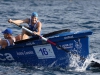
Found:
M 73 32 L 65 29 L 43 35 L 56 43 L 56 46 L 39 37 L 18 41 L 15 45 L 0 50 L 0 63 L 20 62 L 31 66 L 65 67 L 70 64 L 71 54 L 77 54 L 83 59 L 89 55 L 91 34 L 90 30 Z

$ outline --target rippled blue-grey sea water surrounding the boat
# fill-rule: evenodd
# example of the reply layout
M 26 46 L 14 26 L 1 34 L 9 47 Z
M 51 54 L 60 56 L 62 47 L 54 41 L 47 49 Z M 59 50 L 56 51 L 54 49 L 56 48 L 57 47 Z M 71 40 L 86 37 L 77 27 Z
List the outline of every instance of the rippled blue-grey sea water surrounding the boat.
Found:
M 21 29 L 8 23 L 8 19 L 30 18 L 32 12 L 39 14 L 43 34 L 62 29 L 92 30 L 90 54 L 100 52 L 100 0 L 0 0 L 0 31 L 11 28 L 13 35 L 18 35 Z M 100 70 L 27 68 L 14 63 L 0 65 L 0 75 L 100 75 Z

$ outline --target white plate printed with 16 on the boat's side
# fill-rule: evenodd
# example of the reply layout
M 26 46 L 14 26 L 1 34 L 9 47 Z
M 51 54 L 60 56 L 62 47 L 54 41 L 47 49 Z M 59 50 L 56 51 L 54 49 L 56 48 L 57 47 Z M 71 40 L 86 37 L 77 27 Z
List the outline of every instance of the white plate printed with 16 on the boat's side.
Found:
M 38 59 L 56 58 L 50 44 L 33 46 Z

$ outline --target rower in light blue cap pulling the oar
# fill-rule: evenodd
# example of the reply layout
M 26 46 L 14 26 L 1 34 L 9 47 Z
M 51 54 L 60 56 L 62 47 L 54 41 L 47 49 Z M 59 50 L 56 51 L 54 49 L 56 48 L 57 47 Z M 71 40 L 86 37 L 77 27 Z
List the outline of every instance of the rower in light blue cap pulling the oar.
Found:
M 25 40 L 25 39 L 29 39 L 29 36 L 32 36 L 32 38 L 36 37 L 36 35 L 41 35 L 41 27 L 42 27 L 42 23 L 38 20 L 38 14 L 36 12 L 33 12 L 31 15 L 31 18 L 27 18 L 24 20 L 12 20 L 9 19 L 8 20 L 9 23 L 13 23 L 16 25 L 20 25 L 22 23 L 27 23 L 28 27 L 26 26 L 26 28 L 30 29 L 33 33 L 29 33 L 26 30 L 23 29 L 22 34 L 18 35 L 16 38 L 20 38 L 21 39 L 17 39 L 17 41 L 19 40 Z

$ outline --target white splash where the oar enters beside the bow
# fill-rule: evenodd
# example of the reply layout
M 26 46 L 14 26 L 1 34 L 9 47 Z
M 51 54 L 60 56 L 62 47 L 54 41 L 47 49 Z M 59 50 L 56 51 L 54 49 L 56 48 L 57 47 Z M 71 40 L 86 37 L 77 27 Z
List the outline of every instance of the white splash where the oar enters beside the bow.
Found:
M 80 57 L 75 57 L 75 56 L 71 56 L 71 63 L 70 63 L 70 67 L 74 67 L 74 70 L 75 71 L 78 71 L 78 72 L 83 72 L 83 71 L 86 71 L 91 62 L 94 61 L 94 62 L 97 62 L 98 64 L 100 64 L 100 56 L 99 53 L 93 53 L 93 54 L 90 54 L 86 60 L 84 61 L 84 63 L 82 63 L 82 61 L 80 61 Z

